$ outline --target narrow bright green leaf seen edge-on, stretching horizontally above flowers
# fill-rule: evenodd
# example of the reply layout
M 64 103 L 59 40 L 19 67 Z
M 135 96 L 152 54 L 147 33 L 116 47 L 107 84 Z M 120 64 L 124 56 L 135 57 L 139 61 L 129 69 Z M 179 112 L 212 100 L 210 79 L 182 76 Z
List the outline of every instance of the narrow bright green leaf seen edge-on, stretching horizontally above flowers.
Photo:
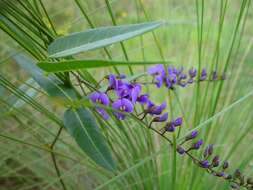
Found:
M 154 65 L 154 64 L 166 64 L 170 61 L 110 61 L 110 60 L 70 60 L 70 61 L 60 61 L 60 62 L 48 62 L 41 61 L 37 64 L 42 70 L 46 72 L 65 72 L 65 71 L 75 71 L 79 69 L 89 69 L 98 67 L 109 67 L 109 66 L 128 66 L 128 65 Z

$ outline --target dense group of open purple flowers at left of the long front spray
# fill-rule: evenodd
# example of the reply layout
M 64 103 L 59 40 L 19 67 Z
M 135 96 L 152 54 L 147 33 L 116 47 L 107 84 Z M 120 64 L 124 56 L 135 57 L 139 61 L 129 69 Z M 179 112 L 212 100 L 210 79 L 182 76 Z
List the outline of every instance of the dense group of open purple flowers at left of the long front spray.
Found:
M 108 80 L 108 87 L 105 92 L 93 92 L 89 98 L 93 103 L 110 106 L 119 112 L 114 112 L 114 115 L 119 120 L 124 120 L 126 113 L 132 113 L 137 104 L 143 105 L 145 110 L 142 114 L 144 117 L 149 114 L 154 117 L 153 122 L 163 122 L 168 118 L 168 113 L 162 114 L 166 108 L 166 102 L 161 105 L 155 105 L 148 94 L 142 94 L 142 86 L 139 83 L 130 83 L 125 79 L 125 76 L 115 76 L 110 74 L 105 77 Z M 111 100 L 110 97 L 116 97 Z M 96 108 L 97 112 L 104 118 L 109 119 L 109 114 L 103 108 Z

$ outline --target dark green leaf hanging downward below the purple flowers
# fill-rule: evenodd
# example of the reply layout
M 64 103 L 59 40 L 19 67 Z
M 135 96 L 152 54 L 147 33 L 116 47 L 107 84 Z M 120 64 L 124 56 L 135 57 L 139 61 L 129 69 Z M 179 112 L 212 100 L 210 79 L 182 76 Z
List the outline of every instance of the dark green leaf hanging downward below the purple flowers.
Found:
M 93 161 L 108 170 L 116 169 L 105 139 L 90 111 L 85 108 L 68 109 L 64 113 L 64 126 Z

